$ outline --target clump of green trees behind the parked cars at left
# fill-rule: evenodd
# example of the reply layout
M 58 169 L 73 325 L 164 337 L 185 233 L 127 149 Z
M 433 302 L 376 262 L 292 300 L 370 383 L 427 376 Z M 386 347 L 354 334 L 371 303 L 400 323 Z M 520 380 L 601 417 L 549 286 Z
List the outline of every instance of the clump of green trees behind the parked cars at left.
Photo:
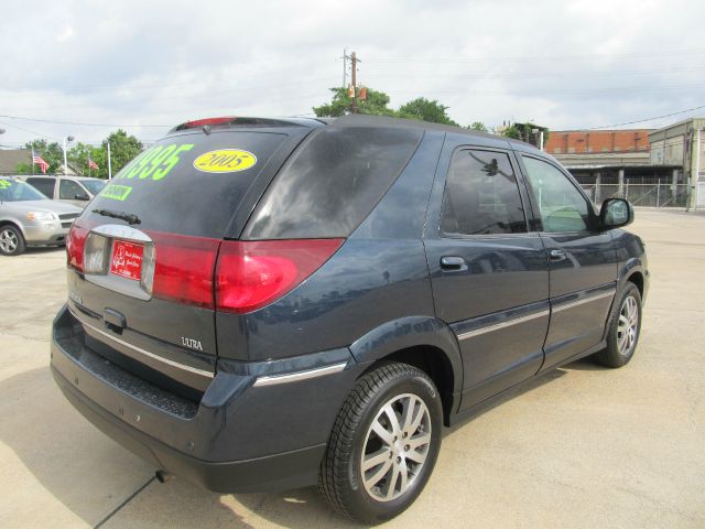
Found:
M 118 129 L 106 138 L 101 145 L 94 147 L 86 143 L 76 143 L 72 147 L 66 156 L 68 163 L 76 168 L 84 176 L 90 174 L 97 179 L 108 177 L 108 142 L 110 143 L 110 161 L 112 174 L 117 174 L 124 165 L 142 152 L 143 145 L 134 136 L 128 134 L 124 130 Z M 62 173 L 64 166 L 64 151 L 62 144 L 57 142 L 47 143 L 46 140 L 33 140 L 26 143 L 28 149 L 42 156 L 48 163 L 50 174 Z M 88 156 L 98 169 L 88 170 Z M 39 168 L 32 168 L 31 163 L 18 164 L 19 174 L 37 173 Z

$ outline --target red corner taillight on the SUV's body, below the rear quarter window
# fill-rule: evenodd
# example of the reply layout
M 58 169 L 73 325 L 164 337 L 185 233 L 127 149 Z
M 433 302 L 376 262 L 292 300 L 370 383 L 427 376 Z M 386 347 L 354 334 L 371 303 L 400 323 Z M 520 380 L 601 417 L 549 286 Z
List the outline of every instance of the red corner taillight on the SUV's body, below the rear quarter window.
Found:
M 343 239 L 224 241 L 216 269 L 216 310 L 261 309 L 321 268 L 341 244 Z

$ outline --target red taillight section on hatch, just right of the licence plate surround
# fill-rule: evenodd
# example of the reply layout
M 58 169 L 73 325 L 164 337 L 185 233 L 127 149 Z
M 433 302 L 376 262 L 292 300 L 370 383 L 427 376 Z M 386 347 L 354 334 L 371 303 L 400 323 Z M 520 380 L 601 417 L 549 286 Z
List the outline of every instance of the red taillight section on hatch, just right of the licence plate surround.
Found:
M 213 271 L 220 240 L 149 231 L 154 242 L 152 295 L 213 309 Z

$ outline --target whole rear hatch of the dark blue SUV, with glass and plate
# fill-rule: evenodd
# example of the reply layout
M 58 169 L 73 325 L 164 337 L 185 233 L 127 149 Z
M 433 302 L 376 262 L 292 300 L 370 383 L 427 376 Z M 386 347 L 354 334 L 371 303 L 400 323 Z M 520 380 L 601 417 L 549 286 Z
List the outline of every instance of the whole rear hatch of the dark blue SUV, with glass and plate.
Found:
M 219 246 L 308 130 L 199 127 L 159 141 L 112 179 L 67 244 L 68 304 L 86 345 L 156 384 L 205 390 L 217 357 Z

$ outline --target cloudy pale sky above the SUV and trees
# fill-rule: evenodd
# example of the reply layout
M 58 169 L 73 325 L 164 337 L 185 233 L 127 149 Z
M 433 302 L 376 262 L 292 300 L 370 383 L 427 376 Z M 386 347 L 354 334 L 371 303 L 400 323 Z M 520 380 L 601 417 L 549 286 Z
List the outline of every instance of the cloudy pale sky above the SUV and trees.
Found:
M 659 127 L 705 115 L 703 21 L 697 0 L 6 0 L 0 144 L 312 115 L 343 82 L 344 48 L 392 107 L 437 99 L 462 125 L 584 129 L 703 107 L 633 126 Z

